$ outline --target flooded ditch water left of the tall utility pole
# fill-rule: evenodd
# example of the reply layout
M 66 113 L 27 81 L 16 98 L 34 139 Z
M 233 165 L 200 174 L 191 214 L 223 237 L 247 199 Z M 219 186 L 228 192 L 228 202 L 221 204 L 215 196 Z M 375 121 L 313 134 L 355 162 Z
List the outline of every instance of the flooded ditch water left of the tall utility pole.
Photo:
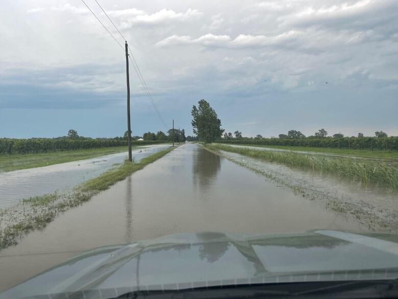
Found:
M 133 150 L 138 161 L 170 145 L 148 145 Z M 141 151 L 141 152 L 140 152 Z M 79 183 L 96 177 L 114 164 L 123 163 L 128 153 L 117 153 L 91 159 L 22 169 L 0 173 L 0 208 L 8 208 L 22 198 L 40 196 L 73 188 Z

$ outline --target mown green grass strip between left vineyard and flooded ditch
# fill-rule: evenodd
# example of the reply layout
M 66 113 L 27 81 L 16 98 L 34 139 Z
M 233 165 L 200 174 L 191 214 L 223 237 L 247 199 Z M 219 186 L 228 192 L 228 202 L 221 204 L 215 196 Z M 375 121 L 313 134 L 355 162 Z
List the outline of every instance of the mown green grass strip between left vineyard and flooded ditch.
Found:
M 0 171 L 13 171 L 18 169 L 43 167 L 65 162 L 90 159 L 125 151 L 127 152 L 127 150 L 127 146 L 118 146 L 26 155 L 0 155 Z

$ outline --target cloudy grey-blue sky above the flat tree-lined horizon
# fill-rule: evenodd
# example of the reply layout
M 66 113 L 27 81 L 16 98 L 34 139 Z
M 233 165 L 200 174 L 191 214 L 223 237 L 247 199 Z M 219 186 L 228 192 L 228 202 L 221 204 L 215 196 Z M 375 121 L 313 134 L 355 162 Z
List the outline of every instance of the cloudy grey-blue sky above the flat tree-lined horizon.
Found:
M 169 127 L 191 134 L 206 99 L 245 136 L 398 135 L 398 1 L 98 2 Z M 0 40 L 0 137 L 126 131 L 123 50 L 81 0 L 5 1 Z M 165 131 L 134 69 L 130 82 L 133 134 Z

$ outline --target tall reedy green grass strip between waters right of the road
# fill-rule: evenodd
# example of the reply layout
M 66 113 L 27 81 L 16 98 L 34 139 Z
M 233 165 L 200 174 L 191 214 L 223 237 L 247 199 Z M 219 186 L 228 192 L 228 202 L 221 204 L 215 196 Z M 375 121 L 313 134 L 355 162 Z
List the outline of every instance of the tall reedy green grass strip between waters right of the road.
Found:
M 311 171 L 334 173 L 363 183 L 375 183 L 398 189 L 398 168 L 374 160 L 364 161 L 348 157 L 330 158 L 294 152 L 255 150 L 221 144 L 211 144 L 208 147 Z

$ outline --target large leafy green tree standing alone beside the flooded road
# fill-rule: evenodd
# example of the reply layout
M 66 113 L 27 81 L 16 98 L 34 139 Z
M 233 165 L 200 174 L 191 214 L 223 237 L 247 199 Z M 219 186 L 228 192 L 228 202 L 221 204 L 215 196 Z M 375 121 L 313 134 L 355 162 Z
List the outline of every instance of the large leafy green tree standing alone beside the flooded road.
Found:
M 221 129 L 221 121 L 206 100 L 200 100 L 197 107 L 193 105 L 191 114 L 193 132 L 197 134 L 199 140 L 209 143 L 221 137 L 224 132 Z

